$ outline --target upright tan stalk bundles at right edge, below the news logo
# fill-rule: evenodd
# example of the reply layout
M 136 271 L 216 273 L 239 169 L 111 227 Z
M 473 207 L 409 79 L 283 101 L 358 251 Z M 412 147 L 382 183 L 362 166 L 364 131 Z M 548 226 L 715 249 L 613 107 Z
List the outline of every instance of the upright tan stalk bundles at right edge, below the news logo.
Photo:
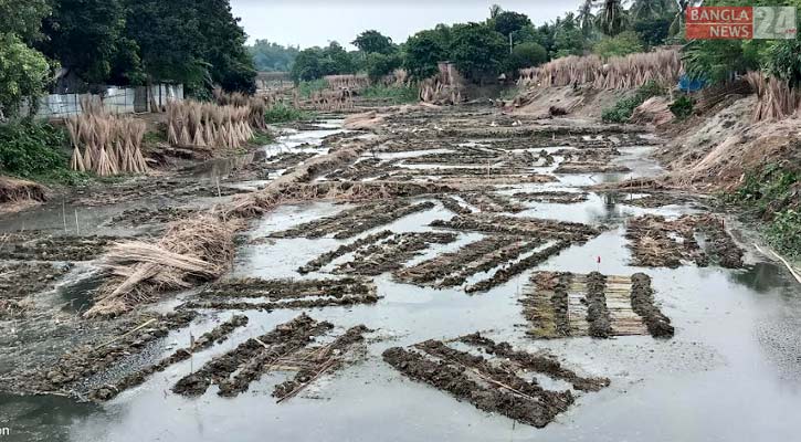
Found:
M 758 98 L 752 115 L 755 122 L 783 119 L 801 107 L 801 94 L 783 80 L 766 77 L 761 72 L 749 72 L 746 81 Z

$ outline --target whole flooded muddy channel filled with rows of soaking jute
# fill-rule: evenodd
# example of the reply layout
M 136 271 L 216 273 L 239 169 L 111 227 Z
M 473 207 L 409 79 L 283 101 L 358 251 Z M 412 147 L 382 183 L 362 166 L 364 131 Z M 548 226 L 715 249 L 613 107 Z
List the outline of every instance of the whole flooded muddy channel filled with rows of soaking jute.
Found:
M 306 185 L 358 198 L 281 206 L 240 234 L 220 281 L 116 318 L 81 316 L 109 244 L 158 239 L 173 220 L 368 136 L 340 125 L 0 214 L 0 305 L 23 307 L 0 316 L 0 412 L 12 431 L 795 435 L 799 286 L 703 199 L 594 190 L 661 172 L 650 154 L 664 140 L 643 128 L 482 106 L 390 112 L 375 129 L 382 143 Z M 752 407 L 733 406 L 742 397 Z M 697 410 L 703 425 L 665 424 Z

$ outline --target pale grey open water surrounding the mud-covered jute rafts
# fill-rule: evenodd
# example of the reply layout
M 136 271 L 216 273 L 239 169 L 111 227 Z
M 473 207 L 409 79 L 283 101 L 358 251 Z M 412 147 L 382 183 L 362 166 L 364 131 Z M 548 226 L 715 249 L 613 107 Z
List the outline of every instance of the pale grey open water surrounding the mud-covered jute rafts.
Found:
M 577 191 L 577 186 L 657 171 L 656 165 L 645 158 L 646 148 L 621 150 L 625 155 L 620 160 L 633 172 L 561 176 L 560 182 L 504 191 Z M 563 251 L 537 270 L 647 273 L 653 277 L 662 311 L 676 327 L 673 339 L 637 336 L 531 340 L 525 335 L 528 325 L 518 304 L 528 273 L 473 296 L 459 288 L 399 284 L 382 275 L 375 278 L 382 296 L 377 305 L 308 311 L 316 319 L 330 320 L 341 329 L 365 324 L 377 333 L 369 340 L 366 360 L 334 377 L 323 377 L 287 402 L 276 404 L 270 397 L 273 386 L 284 380 L 286 373 L 264 376 L 235 399 L 219 398 L 215 388 L 197 399 L 169 391 L 192 368 L 298 314 L 247 312 L 247 327 L 234 332 L 228 341 L 155 375 L 144 386 L 102 407 L 73 404 L 60 398 L 0 397 L 0 427 L 11 428 L 9 440 L 14 440 L 14 433 L 19 440 L 31 440 L 25 433 L 30 431 L 34 440 L 46 441 L 795 440 L 801 407 L 800 286 L 782 269 L 760 262 L 757 255 L 749 255 L 749 266 L 739 271 L 630 266 L 631 254 L 624 239 L 628 218 L 642 213 L 678 215 L 695 210 L 682 206 L 626 206 L 625 200 L 633 197 L 636 196 L 590 193 L 588 201 L 576 204 L 528 203 L 527 210 L 517 215 L 605 227 L 598 238 Z M 330 203 L 282 207 L 256 222 L 247 234 L 261 238 L 345 208 Z M 450 217 L 452 213 L 436 203 L 430 211 L 377 230 L 428 231 L 431 221 Z M 457 242 L 430 250 L 412 263 L 457 250 L 479 238 L 476 233 L 461 234 Z M 301 276 L 296 269 L 340 244 L 341 241 L 333 239 L 276 239 L 261 245 L 244 245 L 232 273 L 238 277 L 330 277 L 326 271 L 350 256 L 336 260 L 322 273 Z M 219 314 L 218 319 L 225 320 L 230 315 Z M 198 336 L 215 323 L 202 320 L 191 332 Z M 600 392 L 580 394 L 567 413 L 537 430 L 410 381 L 380 357 L 388 347 L 447 339 L 476 330 L 530 351 L 547 348 L 569 367 L 584 375 L 608 377 L 612 385 Z M 186 344 L 188 333 L 172 333 L 167 341 Z M 170 351 L 165 349 L 164 355 Z M 540 380 L 545 383 L 545 379 Z

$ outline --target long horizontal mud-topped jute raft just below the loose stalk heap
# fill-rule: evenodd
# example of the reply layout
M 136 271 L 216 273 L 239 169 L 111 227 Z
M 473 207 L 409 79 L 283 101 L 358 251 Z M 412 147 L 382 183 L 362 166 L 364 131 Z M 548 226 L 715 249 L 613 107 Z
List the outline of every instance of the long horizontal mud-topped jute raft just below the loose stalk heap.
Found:
M 369 280 L 223 280 L 209 285 L 180 308 L 266 311 L 376 304 Z

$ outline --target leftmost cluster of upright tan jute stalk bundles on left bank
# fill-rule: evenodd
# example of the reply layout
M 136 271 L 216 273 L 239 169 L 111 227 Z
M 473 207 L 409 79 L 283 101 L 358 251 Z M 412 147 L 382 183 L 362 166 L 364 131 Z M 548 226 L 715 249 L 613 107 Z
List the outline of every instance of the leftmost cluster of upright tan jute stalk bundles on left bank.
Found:
M 72 170 L 93 171 L 101 177 L 148 171 L 141 155 L 144 122 L 106 114 L 101 107 L 67 118 L 66 128 L 73 146 Z

